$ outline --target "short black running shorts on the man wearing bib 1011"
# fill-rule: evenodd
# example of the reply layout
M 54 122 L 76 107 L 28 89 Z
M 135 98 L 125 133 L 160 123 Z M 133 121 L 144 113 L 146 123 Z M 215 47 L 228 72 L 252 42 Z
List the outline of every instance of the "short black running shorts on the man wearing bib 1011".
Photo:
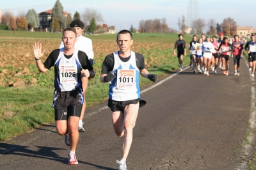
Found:
M 138 104 L 140 102 L 140 107 L 146 104 L 145 100 L 141 100 L 140 98 L 134 99 L 134 100 L 127 100 L 127 101 L 122 101 L 118 102 L 112 99 L 108 99 L 108 107 L 111 109 L 113 112 L 124 112 L 124 108 L 126 105 L 130 104 Z

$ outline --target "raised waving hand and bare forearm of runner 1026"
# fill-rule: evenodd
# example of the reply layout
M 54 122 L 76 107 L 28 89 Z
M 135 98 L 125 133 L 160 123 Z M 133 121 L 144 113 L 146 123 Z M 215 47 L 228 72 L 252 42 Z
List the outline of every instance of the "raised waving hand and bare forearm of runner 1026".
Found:
M 40 73 L 44 73 L 48 70 L 48 68 L 45 68 L 42 60 L 40 59 L 42 56 L 44 56 L 44 51 L 42 50 L 42 43 L 35 43 L 35 45 L 33 45 L 33 49 L 34 49 L 34 56 L 36 59 L 36 66 L 39 70 Z

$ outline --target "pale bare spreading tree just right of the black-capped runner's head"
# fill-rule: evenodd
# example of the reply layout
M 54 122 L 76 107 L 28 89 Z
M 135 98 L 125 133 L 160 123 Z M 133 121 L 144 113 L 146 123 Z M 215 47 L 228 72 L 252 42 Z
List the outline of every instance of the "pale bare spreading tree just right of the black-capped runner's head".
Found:
M 96 9 L 94 8 L 85 8 L 84 9 L 84 12 L 82 14 L 82 20 L 85 24 L 88 24 L 90 25 L 90 21 L 92 19 L 95 19 L 95 22 L 96 23 L 99 23 L 99 22 L 104 22 L 104 19 L 101 15 L 100 12 L 98 12 Z

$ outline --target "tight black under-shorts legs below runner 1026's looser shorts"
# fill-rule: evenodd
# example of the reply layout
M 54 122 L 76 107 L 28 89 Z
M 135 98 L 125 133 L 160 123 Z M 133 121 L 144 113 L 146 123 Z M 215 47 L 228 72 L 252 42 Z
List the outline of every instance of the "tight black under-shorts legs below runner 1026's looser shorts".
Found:
M 55 120 L 68 120 L 69 116 L 81 116 L 83 104 L 69 105 L 65 109 L 54 109 Z

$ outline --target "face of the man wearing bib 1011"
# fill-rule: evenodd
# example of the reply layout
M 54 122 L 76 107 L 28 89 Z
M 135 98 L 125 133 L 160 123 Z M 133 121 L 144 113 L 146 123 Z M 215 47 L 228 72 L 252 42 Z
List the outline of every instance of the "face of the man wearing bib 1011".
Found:
M 117 43 L 120 51 L 127 52 L 131 49 L 133 40 L 131 40 L 131 36 L 129 33 L 120 34 L 120 35 L 118 35 L 118 40 L 116 40 L 116 43 Z

